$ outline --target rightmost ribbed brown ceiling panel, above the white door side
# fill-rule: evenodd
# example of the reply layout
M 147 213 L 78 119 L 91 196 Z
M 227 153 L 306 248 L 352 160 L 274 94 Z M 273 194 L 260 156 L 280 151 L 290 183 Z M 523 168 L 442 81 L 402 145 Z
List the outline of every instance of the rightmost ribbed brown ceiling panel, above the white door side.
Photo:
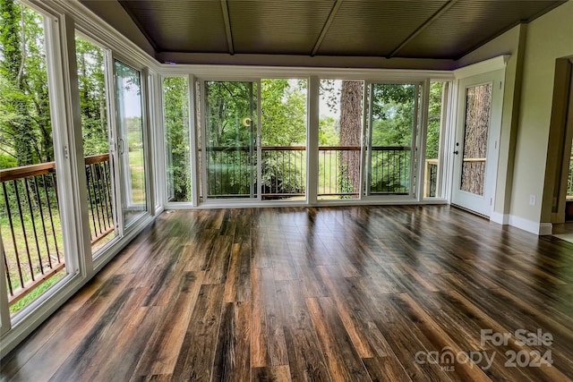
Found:
M 557 3 L 462 0 L 396 52 L 396 56 L 458 59 L 520 21 L 528 21 Z

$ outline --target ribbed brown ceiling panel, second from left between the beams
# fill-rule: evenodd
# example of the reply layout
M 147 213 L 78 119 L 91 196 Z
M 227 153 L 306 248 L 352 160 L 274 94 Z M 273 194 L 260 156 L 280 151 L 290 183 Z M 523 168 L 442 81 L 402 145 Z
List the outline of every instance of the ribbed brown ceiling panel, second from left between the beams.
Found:
M 310 55 L 332 0 L 228 0 L 236 53 Z

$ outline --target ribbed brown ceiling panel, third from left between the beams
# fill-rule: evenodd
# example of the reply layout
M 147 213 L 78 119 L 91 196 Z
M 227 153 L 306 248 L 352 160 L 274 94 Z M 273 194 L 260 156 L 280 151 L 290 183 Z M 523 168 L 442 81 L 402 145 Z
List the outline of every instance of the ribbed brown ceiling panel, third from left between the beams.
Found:
M 446 3 L 345 0 L 317 55 L 389 55 Z

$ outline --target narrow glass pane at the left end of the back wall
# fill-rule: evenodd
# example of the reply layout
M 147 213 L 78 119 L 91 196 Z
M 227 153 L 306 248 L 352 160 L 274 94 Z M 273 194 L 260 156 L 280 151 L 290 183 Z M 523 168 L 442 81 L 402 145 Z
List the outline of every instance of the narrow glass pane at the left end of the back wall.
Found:
M 189 85 L 186 77 L 163 79 L 167 201 L 191 201 Z

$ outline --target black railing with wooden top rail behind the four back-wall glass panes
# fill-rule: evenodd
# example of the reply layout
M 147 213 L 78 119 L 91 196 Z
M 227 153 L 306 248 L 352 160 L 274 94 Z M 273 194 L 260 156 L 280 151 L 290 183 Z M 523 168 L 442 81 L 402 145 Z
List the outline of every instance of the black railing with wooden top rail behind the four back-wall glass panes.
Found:
M 247 197 L 256 189 L 256 156 L 248 146 L 211 147 L 209 195 Z M 261 148 L 261 198 L 284 199 L 306 192 L 306 148 L 265 146 Z M 318 152 L 319 197 L 348 198 L 358 195 L 361 148 L 321 146 Z M 409 147 L 372 147 L 372 194 L 407 194 L 410 190 Z

